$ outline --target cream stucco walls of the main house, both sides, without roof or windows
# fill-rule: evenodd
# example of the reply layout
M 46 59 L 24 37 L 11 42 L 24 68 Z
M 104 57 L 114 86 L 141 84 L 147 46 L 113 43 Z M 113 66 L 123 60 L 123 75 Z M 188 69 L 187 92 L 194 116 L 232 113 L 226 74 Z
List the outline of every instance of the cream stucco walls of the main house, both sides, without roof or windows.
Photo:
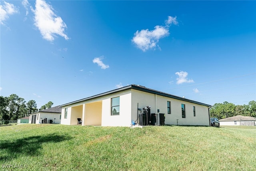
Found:
M 111 98 L 113 97 L 120 97 L 119 115 L 111 115 Z M 171 114 L 167 113 L 167 101 L 171 102 Z M 82 118 L 82 125 L 130 126 L 131 121 L 137 120 L 138 103 L 139 108 L 151 106 L 151 113 L 157 113 L 158 109 L 159 113 L 165 113 L 165 124 L 168 125 L 177 125 L 177 119 L 178 125 L 210 125 L 207 106 L 134 89 L 64 106 L 61 124 L 76 125 L 77 118 Z M 185 104 L 186 118 L 182 118 L 181 104 Z M 193 115 L 193 106 L 196 107 L 196 116 Z M 64 119 L 67 107 L 68 117 Z

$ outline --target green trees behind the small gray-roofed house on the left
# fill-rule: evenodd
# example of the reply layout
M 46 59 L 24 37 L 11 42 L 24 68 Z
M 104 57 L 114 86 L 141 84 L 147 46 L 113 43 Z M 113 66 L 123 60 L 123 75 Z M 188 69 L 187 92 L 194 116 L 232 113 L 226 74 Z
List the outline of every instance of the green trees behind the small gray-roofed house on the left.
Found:
M 36 111 L 51 108 L 52 105 L 52 101 L 49 101 L 38 109 L 34 100 L 26 102 L 24 98 L 16 94 L 11 94 L 9 97 L 0 96 L 0 121 L 26 117 Z

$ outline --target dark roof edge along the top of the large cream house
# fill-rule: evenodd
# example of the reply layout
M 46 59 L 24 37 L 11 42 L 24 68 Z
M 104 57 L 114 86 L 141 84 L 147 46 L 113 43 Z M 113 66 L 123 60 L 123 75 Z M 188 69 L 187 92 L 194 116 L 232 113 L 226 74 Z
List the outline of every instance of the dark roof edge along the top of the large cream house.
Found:
M 101 94 L 98 94 L 98 95 L 94 95 L 94 96 L 91 96 L 91 97 L 87 97 L 87 98 L 84 98 L 84 99 L 80 99 L 80 100 L 76 100 L 76 101 L 73 101 L 73 102 L 70 102 L 70 103 L 66 103 L 66 104 L 60 105 L 60 107 L 70 105 L 70 104 L 74 104 L 74 103 L 78 103 L 78 102 L 81 102 L 81 101 L 86 101 L 86 100 L 89 100 L 89 99 L 94 99 L 94 98 L 97 98 L 97 97 L 102 97 L 104 95 L 109 95 L 109 94 L 117 93 L 117 92 L 120 92 L 120 91 L 125 91 L 127 89 L 136 89 L 136 90 L 144 91 L 144 92 L 147 92 L 147 93 L 162 95 L 164 97 L 170 97 L 170 98 L 173 98 L 173 99 L 188 101 L 190 103 L 196 103 L 196 104 L 204 105 L 204 106 L 208 106 L 208 107 L 211 106 L 211 105 L 208 105 L 208 104 L 205 104 L 205 103 L 200 103 L 198 101 L 194 101 L 194 100 L 186 99 L 186 98 L 183 98 L 183 97 L 178 97 L 176 95 L 171 95 L 171 94 L 168 94 L 168 93 L 164 93 L 162 91 L 157 91 L 157 90 L 154 90 L 154 89 L 146 88 L 146 87 L 141 86 L 141 85 L 132 84 L 132 85 L 127 85 L 127 86 L 122 87 L 122 88 L 107 91 L 105 93 L 101 93 Z

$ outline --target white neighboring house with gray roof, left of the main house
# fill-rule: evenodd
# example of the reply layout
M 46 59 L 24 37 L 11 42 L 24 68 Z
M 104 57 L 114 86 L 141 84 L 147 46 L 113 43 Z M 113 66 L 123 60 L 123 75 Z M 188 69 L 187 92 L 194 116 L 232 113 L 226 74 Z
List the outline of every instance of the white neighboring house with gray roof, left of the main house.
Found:
M 61 107 L 55 106 L 44 109 L 29 116 L 29 123 L 60 123 Z

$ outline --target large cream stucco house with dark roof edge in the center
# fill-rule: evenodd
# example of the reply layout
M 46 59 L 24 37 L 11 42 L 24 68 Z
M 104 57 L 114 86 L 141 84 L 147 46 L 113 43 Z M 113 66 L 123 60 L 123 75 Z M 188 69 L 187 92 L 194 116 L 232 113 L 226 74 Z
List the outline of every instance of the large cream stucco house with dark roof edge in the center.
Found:
M 164 113 L 166 125 L 210 126 L 211 105 L 134 84 L 60 105 L 61 124 L 77 125 L 81 118 L 82 125 L 142 125 L 138 116 L 146 106 L 151 113 Z

